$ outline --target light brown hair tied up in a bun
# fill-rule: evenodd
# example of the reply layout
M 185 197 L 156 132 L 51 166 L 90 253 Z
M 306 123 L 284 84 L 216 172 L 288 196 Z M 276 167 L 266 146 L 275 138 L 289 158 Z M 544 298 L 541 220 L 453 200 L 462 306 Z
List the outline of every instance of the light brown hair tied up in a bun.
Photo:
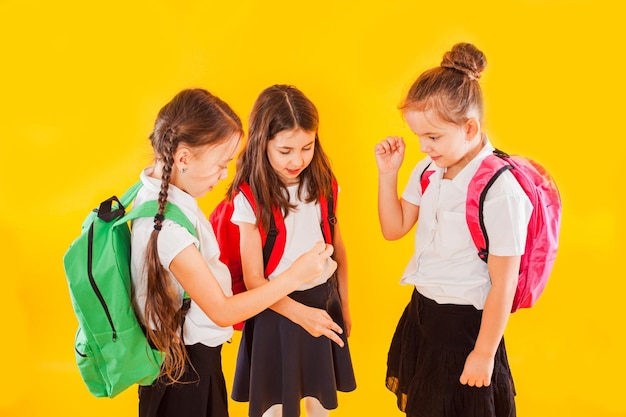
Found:
M 470 43 L 457 43 L 439 67 L 423 72 L 413 83 L 401 110 L 433 110 L 437 117 L 460 125 L 475 111 L 482 122 L 483 95 L 478 83 L 487 65 L 485 55 Z

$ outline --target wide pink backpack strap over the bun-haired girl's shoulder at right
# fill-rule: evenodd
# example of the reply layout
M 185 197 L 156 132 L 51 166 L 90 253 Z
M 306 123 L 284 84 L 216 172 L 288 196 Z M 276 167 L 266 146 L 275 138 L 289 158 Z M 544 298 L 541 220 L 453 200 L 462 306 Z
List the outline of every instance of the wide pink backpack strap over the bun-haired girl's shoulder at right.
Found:
M 483 218 L 483 206 L 487 192 L 498 177 L 505 171 L 513 169 L 504 159 L 496 155 L 488 155 L 478 167 L 467 187 L 465 217 L 470 235 L 478 250 L 478 256 L 487 262 L 489 255 L 489 237 Z

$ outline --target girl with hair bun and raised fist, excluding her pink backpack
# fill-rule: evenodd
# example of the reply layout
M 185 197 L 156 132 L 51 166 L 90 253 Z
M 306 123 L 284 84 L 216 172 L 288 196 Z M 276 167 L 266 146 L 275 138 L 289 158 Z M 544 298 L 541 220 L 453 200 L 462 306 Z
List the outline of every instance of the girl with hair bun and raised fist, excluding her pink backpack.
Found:
M 494 147 L 482 130 L 478 82 L 484 54 L 459 43 L 422 73 L 400 109 L 421 152 L 398 196 L 405 143 L 375 146 L 383 236 L 396 240 L 417 223 L 415 252 L 401 283 L 415 287 L 391 341 L 386 385 L 409 417 L 515 416 L 515 387 L 503 334 L 517 286 L 532 205 L 510 172 L 484 202 L 487 263 L 465 219 L 467 185 Z M 433 170 L 422 189 L 426 168 Z

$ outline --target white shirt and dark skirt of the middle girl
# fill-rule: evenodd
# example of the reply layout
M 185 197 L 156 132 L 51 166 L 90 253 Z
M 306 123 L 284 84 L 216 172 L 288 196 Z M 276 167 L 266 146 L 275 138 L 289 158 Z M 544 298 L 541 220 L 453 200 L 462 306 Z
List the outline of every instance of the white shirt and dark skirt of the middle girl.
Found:
M 285 217 L 286 244 L 273 279 L 285 271 L 316 242 L 323 240 L 319 204 L 297 196 L 298 185 L 288 187 L 297 209 Z M 242 194 L 234 199 L 233 223 L 256 223 L 250 203 Z M 337 291 L 336 262 L 329 259 L 324 272 L 289 295 L 292 299 L 326 310 L 344 327 Z M 248 415 L 261 417 L 274 404 L 283 405 L 283 417 L 300 415 L 300 400 L 317 398 L 326 409 L 337 408 L 337 391 L 356 388 L 348 340 L 344 347 L 326 337 L 313 337 L 291 320 L 266 309 L 245 322 L 232 390 L 235 401 L 249 401 Z

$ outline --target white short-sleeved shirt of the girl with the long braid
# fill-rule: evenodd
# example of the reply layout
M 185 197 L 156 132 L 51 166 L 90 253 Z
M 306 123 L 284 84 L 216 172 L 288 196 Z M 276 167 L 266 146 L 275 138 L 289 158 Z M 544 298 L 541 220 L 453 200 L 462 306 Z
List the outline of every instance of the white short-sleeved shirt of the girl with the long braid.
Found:
M 134 205 L 146 201 L 157 200 L 161 188 L 161 181 L 149 177 L 152 168 L 147 168 L 141 173 L 143 187 L 135 197 Z M 174 275 L 169 271 L 172 260 L 189 245 L 200 245 L 200 253 L 206 260 L 209 269 L 219 282 L 226 296 L 232 295 L 231 279 L 228 267 L 219 260 L 219 246 L 211 224 L 198 207 L 196 200 L 177 188 L 170 185 L 168 201 L 176 204 L 191 223 L 195 226 L 198 239 L 193 237 L 187 229 L 171 220 L 165 220 L 159 232 L 158 251 L 161 264 L 168 271 L 171 285 L 178 294 L 181 304 L 184 294 L 183 287 L 178 283 Z M 144 273 L 145 251 L 148 240 L 154 230 L 154 218 L 144 217 L 133 221 L 131 234 L 131 276 L 133 281 L 133 304 L 140 320 L 146 325 L 145 304 L 147 298 L 147 277 Z M 153 325 L 151 325 L 154 327 Z M 220 327 L 215 324 L 198 305 L 191 302 L 191 307 L 185 317 L 183 338 L 185 344 L 193 345 L 202 343 L 206 346 L 219 346 L 231 338 L 232 326 Z

